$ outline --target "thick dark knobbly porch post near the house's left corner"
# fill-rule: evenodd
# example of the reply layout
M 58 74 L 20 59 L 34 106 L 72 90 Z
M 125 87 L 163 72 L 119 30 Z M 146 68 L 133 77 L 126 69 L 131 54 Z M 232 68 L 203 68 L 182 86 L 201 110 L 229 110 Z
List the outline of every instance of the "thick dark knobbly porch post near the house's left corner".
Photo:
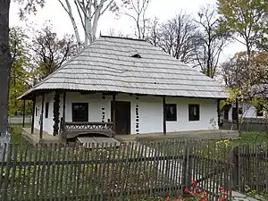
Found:
M 60 93 L 58 90 L 54 93 L 54 106 L 53 106 L 53 135 L 59 134 L 59 122 L 60 122 Z

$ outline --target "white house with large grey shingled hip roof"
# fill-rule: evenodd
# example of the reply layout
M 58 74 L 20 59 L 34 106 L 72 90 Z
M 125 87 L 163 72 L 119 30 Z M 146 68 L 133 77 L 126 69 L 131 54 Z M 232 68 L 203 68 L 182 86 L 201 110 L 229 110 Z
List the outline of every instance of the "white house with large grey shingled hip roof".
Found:
M 144 40 L 103 36 L 19 98 L 34 101 L 32 128 L 40 135 L 120 135 L 211 130 L 226 94 Z

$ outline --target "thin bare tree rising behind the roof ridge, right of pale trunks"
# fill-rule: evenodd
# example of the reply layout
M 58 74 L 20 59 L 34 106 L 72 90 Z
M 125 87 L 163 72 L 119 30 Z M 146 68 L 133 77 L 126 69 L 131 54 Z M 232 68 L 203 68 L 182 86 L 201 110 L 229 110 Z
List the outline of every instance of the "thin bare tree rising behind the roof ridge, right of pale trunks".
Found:
M 123 7 L 128 9 L 128 12 L 123 12 L 135 21 L 137 37 L 139 39 L 146 38 L 146 18 L 147 7 L 151 0 L 122 0 Z M 133 13 L 130 13 L 132 11 Z

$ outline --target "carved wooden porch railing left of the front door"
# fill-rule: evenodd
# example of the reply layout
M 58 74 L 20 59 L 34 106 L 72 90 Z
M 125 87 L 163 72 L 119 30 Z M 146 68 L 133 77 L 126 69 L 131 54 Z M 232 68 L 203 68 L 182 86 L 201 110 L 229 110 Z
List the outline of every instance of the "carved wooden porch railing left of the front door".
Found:
M 113 122 L 66 122 L 61 120 L 61 133 L 63 138 L 75 138 L 83 134 L 102 134 L 114 136 Z

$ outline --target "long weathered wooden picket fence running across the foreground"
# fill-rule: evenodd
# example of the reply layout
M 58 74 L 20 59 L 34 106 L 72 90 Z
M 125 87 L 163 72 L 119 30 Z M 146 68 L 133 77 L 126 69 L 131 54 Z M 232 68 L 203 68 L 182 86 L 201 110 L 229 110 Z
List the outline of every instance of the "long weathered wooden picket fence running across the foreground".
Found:
M 206 190 L 208 200 L 219 197 L 219 187 L 229 191 L 225 198 L 231 200 L 231 189 L 246 184 L 245 178 L 250 180 L 245 173 L 236 174 L 243 172 L 244 160 L 251 163 L 250 158 L 244 158 L 247 152 L 215 141 L 172 139 L 120 146 L 5 146 L 0 163 L 0 200 L 4 201 L 180 197 L 184 188 L 190 188 L 191 180 L 197 180 L 199 188 Z M 262 150 L 258 149 L 258 153 L 267 156 L 267 149 Z M 266 156 L 257 154 L 255 158 L 265 162 Z M 257 174 L 256 168 L 249 170 Z M 263 170 L 261 176 L 266 177 L 262 185 L 267 188 L 267 173 Z M 261 190 L 260 186 L 258 189 Z

